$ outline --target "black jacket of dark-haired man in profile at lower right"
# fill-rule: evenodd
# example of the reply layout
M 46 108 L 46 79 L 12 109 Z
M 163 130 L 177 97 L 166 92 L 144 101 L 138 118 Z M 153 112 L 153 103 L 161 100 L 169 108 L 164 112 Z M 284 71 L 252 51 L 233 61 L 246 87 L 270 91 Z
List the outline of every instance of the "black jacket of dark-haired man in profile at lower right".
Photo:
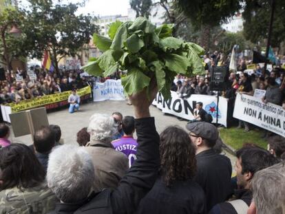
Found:
M 249 206 L 253 199 L 253 193 L 249 189 L 238 189 L 235 191 L 235 200 L 241 199 Z M 229 202 L 215 205 L 209 214 L 238 214 Z

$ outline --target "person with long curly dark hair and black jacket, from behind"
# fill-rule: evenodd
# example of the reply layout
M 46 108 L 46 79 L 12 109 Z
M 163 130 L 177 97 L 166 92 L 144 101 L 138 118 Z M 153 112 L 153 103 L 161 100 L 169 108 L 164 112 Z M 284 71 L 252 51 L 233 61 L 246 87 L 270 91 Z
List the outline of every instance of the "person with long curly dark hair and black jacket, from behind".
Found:
M 137 213 L 206 213 L 202 188 L 193 181 L 196 149 L 186 131 L 168 127 L 160 134 L 160 171 Z

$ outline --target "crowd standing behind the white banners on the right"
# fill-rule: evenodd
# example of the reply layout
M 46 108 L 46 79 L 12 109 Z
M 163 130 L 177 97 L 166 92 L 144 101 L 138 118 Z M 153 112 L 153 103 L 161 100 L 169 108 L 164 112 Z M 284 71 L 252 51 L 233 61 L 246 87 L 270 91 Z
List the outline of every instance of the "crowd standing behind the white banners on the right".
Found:
M 284 82 L 285 69 L 281 65 L 285 64 L 285 56 L 279 60 L 278 65 L 273 66 L 271 72 L 264 69 L 259 64 L 255 69 L 247 69 L 251 61 L 240 58 L 237 61 L 237 69 L 231 70 L 230 57 L 214 52 L 204 55 L 205 74 L 193 77 L 186 77 L 178 74 L 173 81 L 171 90 L 177 92 L 180 98 L 189 98 L 192 94 L 214 95 L 220 93 L 228 101 L 227 126 L 237 125 L 244 127 L 244 131 L 250 131 L 249 123 L 233 118 L 235 97 L 237 93 L 253 96 L 255 89 L 264 90 L 262 102 L 280 105 L 285 109 L 285 89 Z M 222 92 L 211 89 L 211 76 L 215 67 L 224 66 L 224 83 L 220 86 Z M 272 136 L 272 133 L 264 134 L 264 137 Z

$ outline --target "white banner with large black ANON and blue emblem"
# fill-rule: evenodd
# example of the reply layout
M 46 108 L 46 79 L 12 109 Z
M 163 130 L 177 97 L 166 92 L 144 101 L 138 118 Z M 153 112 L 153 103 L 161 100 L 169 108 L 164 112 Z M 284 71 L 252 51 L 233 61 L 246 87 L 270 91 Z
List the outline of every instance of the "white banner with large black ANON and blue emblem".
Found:
M 158 109 L 161 109 L 163 113 L 172 114 L 187 120 L 193 120 L 193 110 L 198 102 L 203 103 L 203 109 L 207 111 L 208 114 L 211 114 L 213 123 L 216 122 L 218 116 L 218 123 L 226 127 L 228 103 L 226 98 L 222 96 L 219 97 L 218 114 L 216 96 L 193 94 L 184 100 L 179 98 L 176 92 L 171 92 L 171 99 L 164 100 L 162 94 L 158 93 L 152 104 L 156 105 Z

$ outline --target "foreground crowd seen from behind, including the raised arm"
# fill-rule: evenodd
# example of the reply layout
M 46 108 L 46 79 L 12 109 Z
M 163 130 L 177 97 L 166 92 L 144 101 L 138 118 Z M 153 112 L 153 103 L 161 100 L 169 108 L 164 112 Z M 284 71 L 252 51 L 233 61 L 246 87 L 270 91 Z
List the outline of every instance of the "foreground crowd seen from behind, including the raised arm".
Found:
M 57 125 L 37 130 L 30 147 L 13 143 L 1 124 L 0 213 L 285 212 L 284 138 L 271 138 L 268 150 L 245 144 L 232 178 L 211 123 L 158 135 L 149 114 L 155 95 L 129 98 L 136 119 L 94 114 L 77 146 L 63 144 Z

